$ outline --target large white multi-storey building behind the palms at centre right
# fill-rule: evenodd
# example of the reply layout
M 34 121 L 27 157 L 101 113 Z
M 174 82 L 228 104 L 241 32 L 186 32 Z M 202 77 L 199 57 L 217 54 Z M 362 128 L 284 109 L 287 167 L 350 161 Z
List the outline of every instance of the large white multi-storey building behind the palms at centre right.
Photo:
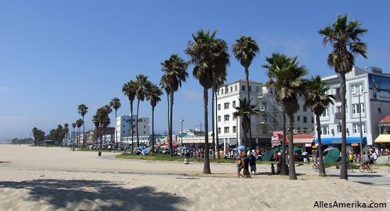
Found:
M 272 132 L 282 130 L 280 105 L 275 100 L 274 88 L 265 87 L 262 83 L 250 81 L 250 99 L 252 105 L 257 105 L 260 115 L 251 116 L 252 143 L 260 147 L 271 147 Z M 220 144 L 239 144 L 243 140 L 240 118 L 233 118 L 238 99 L 247 98 L 247 81 L 239 80 L 221 86 L 217 93 L 216 108 L 218 116 L 218 139 Z M 304 97 L 299 96 L 299 111 L 294 115 L 295 132 L 311 133 L 314 128 L 314 118 L 311 109 L 303 106 Z M 215 102 L 214 102 L 215 103 Z M 248 135 L 249 137 L 249 135 Z

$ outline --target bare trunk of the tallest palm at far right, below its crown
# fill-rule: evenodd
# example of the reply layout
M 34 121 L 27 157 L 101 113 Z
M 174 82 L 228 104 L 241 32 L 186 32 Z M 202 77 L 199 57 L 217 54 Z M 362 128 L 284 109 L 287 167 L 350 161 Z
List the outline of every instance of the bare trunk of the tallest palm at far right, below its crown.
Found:
M 340 91 L 341 91 L 341 166 L 340 166 L 340 179 L 348 180 L 347 173 L 347 160 L 345 159 L 347 156 L 347 122 L 346 114 L 345 114 L 345 73 L 340 73 Z

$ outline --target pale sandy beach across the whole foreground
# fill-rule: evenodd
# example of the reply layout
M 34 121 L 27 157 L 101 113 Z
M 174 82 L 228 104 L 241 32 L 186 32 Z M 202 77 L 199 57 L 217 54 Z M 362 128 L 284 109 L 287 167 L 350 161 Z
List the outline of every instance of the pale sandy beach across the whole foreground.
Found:
M 384 188 L 336 176 L 318 178 L 309 164 L 296 167 L 296 181 L 270 175 L 269 166 L 259 164 L 259 175 L 239 179 L 234 164 L 211 164 L 212 174 L 205 175 L 203 163 L 115 159 L 117 154 L 0 145 L 0 210 L 326 209 L 321 202 L 390 206 Z

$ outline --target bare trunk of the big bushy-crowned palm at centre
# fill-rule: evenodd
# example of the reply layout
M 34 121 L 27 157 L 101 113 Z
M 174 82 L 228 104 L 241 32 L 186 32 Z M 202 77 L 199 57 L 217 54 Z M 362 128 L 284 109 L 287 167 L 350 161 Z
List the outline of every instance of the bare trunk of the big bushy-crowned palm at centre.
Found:
M 210 147 L 208 146 L 208 89 L 203 88 L 204 99 L 204 169 L 203 173 L 211 173 L 210 169 Z

